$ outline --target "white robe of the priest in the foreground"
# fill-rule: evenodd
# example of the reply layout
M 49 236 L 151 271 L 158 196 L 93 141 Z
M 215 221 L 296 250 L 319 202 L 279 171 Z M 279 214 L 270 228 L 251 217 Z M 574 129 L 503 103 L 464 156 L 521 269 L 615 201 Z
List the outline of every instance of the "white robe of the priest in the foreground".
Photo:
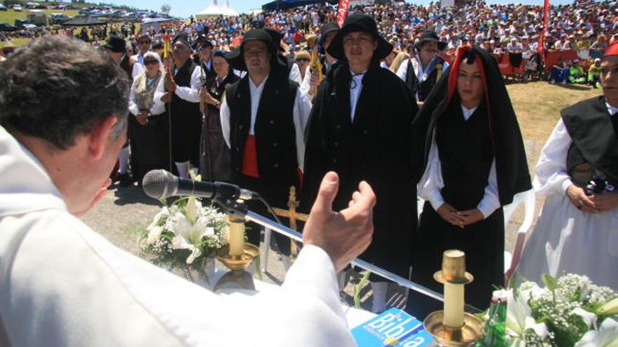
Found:
M 355 346 L 338 292 L 310 245 L 282 287 L 254 296 L 213 294 L 120 250 L 67 212 L 0 127 L 1 346 Z

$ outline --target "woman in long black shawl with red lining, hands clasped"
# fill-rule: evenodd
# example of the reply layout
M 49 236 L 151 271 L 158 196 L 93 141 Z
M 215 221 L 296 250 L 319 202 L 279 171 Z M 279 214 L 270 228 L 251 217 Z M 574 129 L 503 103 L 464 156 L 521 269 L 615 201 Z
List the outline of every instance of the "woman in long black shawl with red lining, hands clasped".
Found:
M 449 72 L 428 96 L 413 124 L 419 141 L 416 172 L 426 199 L 412 280 L 441 291 L 433 280 L 442 252 L 466 252 L 475 280 L 466 303 L 489 305 L 504 285 L 504 216 L 501 206 L 531 188 L 515 111 L 497 62 L 478 46 L 461 46 Z M 424 317 L 441 304 L 412 293 L 408 311 Z

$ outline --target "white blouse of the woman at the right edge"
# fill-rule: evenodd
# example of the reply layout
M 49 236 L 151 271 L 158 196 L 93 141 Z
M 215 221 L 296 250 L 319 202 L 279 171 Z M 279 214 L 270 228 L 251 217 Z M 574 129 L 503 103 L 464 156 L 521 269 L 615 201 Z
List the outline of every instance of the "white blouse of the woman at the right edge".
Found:
M 607 102 L 605 107 L 612 117 L 617 116 L 618 107 L 612 107 Z M 537 175 L 532 181 L 532 187 L 536 193 L 546 196 L 552 193 L 566 193 L 573 184 L 567 171 L 567 156 L 572 142 L 563 118 L 560 118 L 541 149 L 539 161 L 534 168 Z

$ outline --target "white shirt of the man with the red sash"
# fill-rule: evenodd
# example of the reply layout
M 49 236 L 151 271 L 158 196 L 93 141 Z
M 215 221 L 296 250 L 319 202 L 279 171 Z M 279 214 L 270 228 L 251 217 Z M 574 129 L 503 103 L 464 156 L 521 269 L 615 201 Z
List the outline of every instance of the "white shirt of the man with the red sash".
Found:
M 262 81 L 260 86 L 256 86 L 254 82 L 249 78 L 249 95 L 251 96 L 251 123 L 249 126 L 249 135 L 255 135 L 255 124 L 258 116 L 258 107 L 260 106 L 260 98 L 262 96 L 262 90 L 264 89 L 268 76 Z M 298 167 L 303 168 L 305 163 L 305 125 L 309 120 L 309 114 L 311 112 L 311 102 L 307 95 L 298 90 L 296 93 L 296 99 L 294 100 L 294 110 L 292 111 L 292 118 L 294 121 L 294 131 L 296 137 L 296 160 L 298 161 Z M 228 100 L 223 98 L 221 103 L 221 109 L 219 111 L 221 115 L 221 132 L 223 132 L 223 139 L 225 144 L 230 147 L 230 107 L 228 106 Z

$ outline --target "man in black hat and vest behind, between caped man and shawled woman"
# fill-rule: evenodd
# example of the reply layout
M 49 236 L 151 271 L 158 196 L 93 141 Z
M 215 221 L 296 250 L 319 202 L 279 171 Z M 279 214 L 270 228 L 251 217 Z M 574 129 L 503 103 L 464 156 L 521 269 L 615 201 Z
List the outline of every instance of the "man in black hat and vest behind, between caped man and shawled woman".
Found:
M 426 30 L 414 45 L 416 54 L 397 70 L 397 76 L 412 90 L 419 105 L 425 101 L 435 83 L 449 67 L 449 63 L 439 56 L 446 46 L 447 43 L 440 41 L 438 34 Z

